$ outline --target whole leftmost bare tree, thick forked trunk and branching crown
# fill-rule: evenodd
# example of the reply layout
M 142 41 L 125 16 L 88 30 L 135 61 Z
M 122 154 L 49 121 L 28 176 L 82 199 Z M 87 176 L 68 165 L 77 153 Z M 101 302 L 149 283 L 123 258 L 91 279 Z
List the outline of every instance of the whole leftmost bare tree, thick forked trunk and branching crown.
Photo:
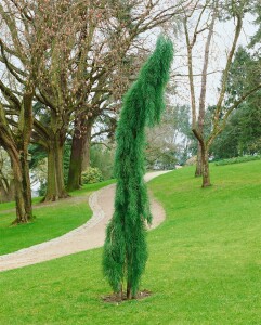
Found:
M 16 219 L 26 223 L 32 219 L 28 166 L 28 145 L 32 129 L 32 101 L 42 64 L 50 42 L 44 14 L 34 14 L 24 1 L 4 0 L 0 3 L 0 61 L 5 75 L 1 76 L 0 145 L 8 152 L 14 177 Z M 28 22 L 34 21 L 29 26 Z M 48 22 L 52 26 L 52 21 Z M 17 84 L 17 81 L 18 83 Z

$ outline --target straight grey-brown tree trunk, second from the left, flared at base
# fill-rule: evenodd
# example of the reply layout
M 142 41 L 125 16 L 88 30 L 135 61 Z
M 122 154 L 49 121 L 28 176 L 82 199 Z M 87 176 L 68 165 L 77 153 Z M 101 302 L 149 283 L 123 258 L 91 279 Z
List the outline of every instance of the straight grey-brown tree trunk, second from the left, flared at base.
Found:
M 49 143 L 48 187 L 43 202 L 55 202 L 68 197 L 64 184 L 63 152 L 64 143 L 60 141 L 60 136 L 54 136 Z

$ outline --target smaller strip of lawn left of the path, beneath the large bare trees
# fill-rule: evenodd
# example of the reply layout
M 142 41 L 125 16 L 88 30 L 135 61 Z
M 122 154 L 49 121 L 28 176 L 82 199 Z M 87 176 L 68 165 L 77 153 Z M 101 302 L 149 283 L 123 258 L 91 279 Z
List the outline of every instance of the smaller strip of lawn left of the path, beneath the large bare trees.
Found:
M 4 212 L 4 208 L 14 208 L 14 203 L 0 204 L 0 255 L 50 240 L 80 226 L 92 214 L 88 205 L 89 195 L 112 182 L 84 185 L 81 190 L 71 193 L 70 198 L 57 203 L 39 205 L 40 198 L 35 198 L 36 219 L 29 224 L 12 226 L 15 211 Z

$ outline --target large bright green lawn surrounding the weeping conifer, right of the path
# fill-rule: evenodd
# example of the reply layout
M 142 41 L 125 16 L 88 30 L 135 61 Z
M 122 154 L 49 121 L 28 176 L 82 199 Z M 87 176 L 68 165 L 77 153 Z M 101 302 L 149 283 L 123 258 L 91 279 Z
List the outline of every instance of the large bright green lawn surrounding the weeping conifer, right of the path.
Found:
M 153 180 L 167 220 L 147 235 L 144 300 L 104 303 L 102 249 L 0 273 L 0 324 L 261 324 L 261 161 Z

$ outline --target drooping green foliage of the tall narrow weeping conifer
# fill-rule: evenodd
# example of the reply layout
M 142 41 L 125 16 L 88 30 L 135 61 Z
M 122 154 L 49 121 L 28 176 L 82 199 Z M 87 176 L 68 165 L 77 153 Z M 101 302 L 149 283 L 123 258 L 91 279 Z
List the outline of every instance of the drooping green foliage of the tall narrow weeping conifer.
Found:
M 123 99 L 116 131 L 115 212 L 107 226 L 103 266 L 115 292 L 122 290 L 126 280 L 128 299 L 135 296 L 145 269 L 145 226 L 146 222 L 152 222 L 143 180 L 145 126 L 154 126 L 160 120 L 172 57 L 171 41 L 159 37 L 154 53 Z

